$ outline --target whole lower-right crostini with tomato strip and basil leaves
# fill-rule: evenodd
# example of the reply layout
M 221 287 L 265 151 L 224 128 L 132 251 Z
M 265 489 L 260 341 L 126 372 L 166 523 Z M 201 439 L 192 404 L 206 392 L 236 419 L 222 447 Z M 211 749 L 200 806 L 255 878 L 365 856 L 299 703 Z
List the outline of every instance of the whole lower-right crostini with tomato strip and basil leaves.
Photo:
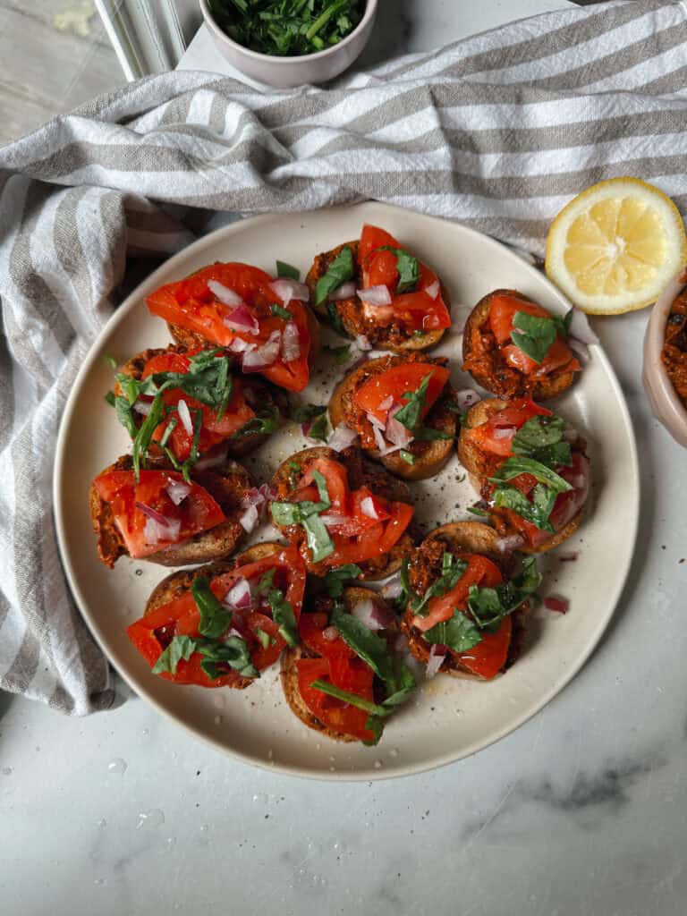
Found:
M 491 680 L 518 659 L 529 595 L 540 584 L 534 557 L 516 573 L 494 529 L 454 522 L 412 551 L 404 578 L 401 629 L 428 677 Z

